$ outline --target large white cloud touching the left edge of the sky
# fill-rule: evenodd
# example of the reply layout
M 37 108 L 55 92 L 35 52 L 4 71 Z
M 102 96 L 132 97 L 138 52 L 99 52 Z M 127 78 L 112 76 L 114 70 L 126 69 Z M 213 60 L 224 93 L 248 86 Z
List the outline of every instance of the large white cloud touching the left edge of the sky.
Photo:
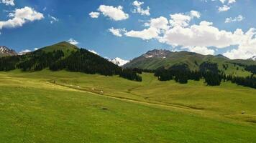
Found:
M 9 13 L 9 17 L 11 19 L 7 21 L 0 21 L 0 29 L 22 26 L 27 21 L 43 19 L 44 15 L 26 6 L 22 9 L 16 9 L 14 12 Z

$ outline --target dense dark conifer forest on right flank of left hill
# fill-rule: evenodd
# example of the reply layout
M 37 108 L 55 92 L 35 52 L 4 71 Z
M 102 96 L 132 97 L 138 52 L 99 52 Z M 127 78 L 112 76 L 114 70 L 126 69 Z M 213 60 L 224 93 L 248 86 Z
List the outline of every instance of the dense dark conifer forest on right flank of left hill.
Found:
M 119 75 L 125 79 L 141 82 L 142 78 L 136 71 L 124 70 L 116 64 L 92 54 L 86 49 L 79 49 L 75 53 L 50 66 L 52 71 L 67 69 L 68 71 L 80 71 L 86 74 L 101 74 L 105 76 Z

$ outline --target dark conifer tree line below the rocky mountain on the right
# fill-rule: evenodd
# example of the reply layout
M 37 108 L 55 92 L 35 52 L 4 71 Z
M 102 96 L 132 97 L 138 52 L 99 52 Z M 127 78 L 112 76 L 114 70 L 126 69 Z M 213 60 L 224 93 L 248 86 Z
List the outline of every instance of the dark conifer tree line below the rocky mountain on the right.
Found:
M 160 81 L 175 80 L 175 82 L 180 84 L 187 84 L 188 80 L 199 81 L 200 79 L 204 79 L 209 86 L 219 86 L 221 82 L 230 81 L 237 85 L 256 89 L 256 78 L 254 75 L 255 74 L 252 74 L 250 77 L 227 75 L 224 74 L 223 71 L 219 71 L 218 64 L 210 63 L 208 61 L 200 64 L 198 71 L 191 71 L 187 64 L 174 65 L 169 69 L 160 67 L 155 70 L 155 77 Z

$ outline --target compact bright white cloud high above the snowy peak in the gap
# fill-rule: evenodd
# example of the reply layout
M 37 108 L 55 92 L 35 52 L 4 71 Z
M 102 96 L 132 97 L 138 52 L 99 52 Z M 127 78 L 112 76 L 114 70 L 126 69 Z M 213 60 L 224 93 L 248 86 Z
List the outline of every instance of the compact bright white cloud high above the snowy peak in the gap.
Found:
M 98 10 L 101 11 L 104 16 L 108 16 L 114 21 L 121 21 L 129 18 L 129 14 L 124 13 L 122 6 L 114 7 L 101 5 Z

